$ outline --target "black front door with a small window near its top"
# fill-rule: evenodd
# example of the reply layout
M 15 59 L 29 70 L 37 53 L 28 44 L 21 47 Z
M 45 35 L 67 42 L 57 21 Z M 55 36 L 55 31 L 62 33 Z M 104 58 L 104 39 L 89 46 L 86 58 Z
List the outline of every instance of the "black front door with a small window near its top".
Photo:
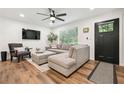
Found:
M 119 64 L 119 18 L 95 23 L 95 60 Z

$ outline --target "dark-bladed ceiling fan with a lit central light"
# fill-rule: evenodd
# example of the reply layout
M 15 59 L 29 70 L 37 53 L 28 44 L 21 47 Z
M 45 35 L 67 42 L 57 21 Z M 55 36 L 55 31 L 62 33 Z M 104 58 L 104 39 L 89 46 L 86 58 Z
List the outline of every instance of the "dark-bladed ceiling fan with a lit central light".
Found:
M 48 8 L 49 10 L 49 14 L 44 14 L 44 13 L 36 13 L 38 15 L 44 15 L 44 16 L 48 16 L 47 18 L 44 18 L 42 20 L 47 20 L 47 19 L 50 19 L 50 21 L 52 23 L 55 23 L 55 20 L 60 20 L 60 21 L 65 21 L 64 19 L 62 18 L 59 18 L 59 17 L 62 17 L 62 16 L 66 16 L 67 14 L 66 13 L 61 13 L 61 14 L 55 14 L 55 11 L 51 8 Z

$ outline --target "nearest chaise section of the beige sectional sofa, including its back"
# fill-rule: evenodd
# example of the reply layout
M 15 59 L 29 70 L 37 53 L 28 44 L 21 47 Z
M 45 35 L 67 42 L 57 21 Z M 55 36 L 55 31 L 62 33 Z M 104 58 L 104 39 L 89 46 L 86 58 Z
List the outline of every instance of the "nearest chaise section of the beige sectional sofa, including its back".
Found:
M 48 66 L 68 77 L 89 60 L 89 46 L 75 45 L 68 52 L 48 57 Z

